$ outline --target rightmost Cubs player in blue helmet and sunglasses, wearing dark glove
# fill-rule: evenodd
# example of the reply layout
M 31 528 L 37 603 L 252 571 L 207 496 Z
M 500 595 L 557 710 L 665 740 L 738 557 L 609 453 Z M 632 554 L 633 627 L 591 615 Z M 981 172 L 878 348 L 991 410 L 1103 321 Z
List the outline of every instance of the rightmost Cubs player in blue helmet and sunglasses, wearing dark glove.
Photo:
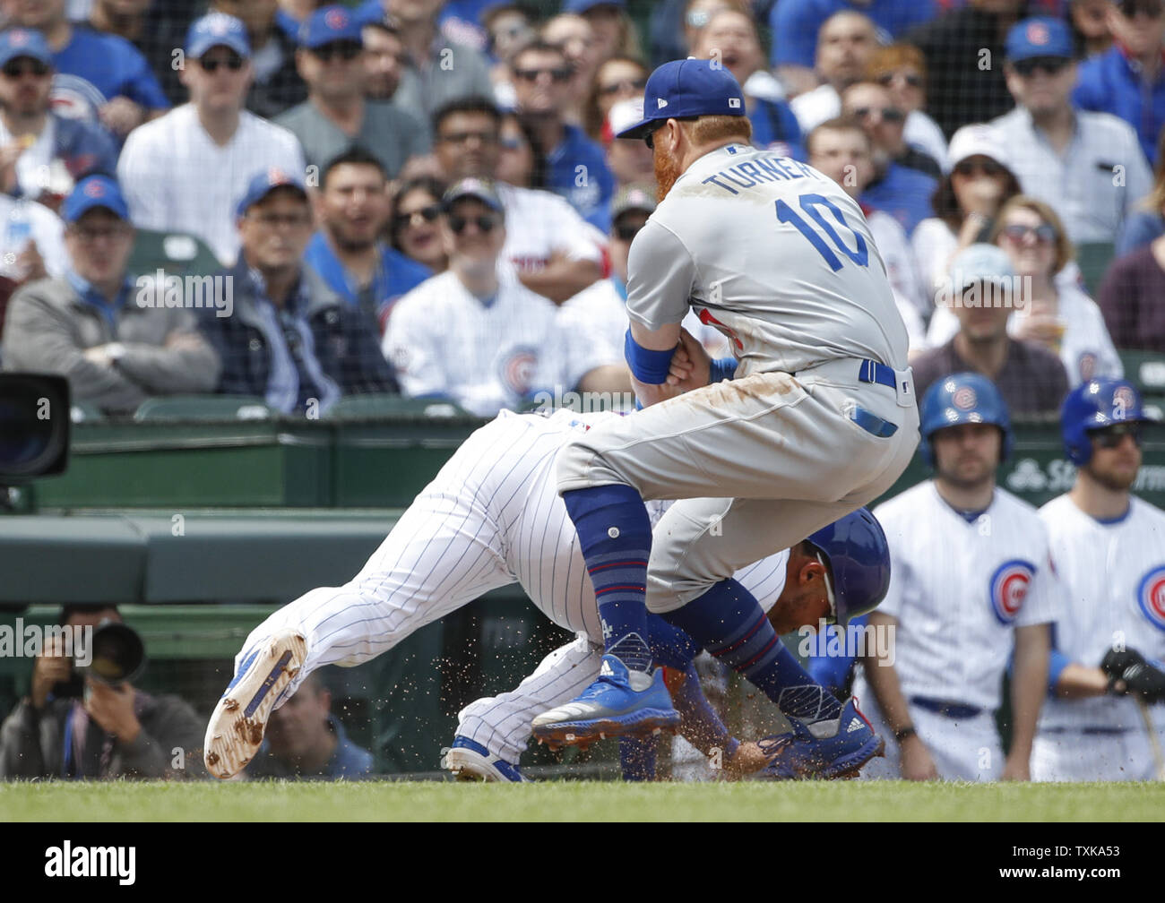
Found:
M 1165 514 L 1129 493 L 1149 419 L 1124 380 L 1090 380 L 1064 402 L 1064 450 L 1078 470 L 1039 512 L 1065 593 L 1036 781 L 1148 781 L 1159 767 L 1137 707 L 1150 705 L 1165 738 Z

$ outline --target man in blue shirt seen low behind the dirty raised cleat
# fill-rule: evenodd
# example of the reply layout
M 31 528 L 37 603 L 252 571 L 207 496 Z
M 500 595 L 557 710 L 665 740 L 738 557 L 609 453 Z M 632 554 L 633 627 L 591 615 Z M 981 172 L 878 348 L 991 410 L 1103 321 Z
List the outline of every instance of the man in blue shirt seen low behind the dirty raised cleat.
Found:
M 295 696 L 271 713 L 267 739 L 247 767 L 247 777 L 352 781 L 370 774 L 372 753 L 348 740 L 331 710 L 332 693 L 319 672 L 309 675 Z

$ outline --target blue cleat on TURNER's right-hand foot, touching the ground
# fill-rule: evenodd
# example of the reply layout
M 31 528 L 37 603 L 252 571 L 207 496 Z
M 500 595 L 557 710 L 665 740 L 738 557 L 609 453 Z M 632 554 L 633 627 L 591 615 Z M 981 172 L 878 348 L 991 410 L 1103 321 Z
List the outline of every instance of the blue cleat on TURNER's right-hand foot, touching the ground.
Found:
M 761 741 L 763 752 L 770 745 L 774 757 L 757 773 L 772 781 L 832 781 L 856 777 L 857 770 L 874 756 L 882 755 L 885 743 L 874 733 L 866 715 L 850 699 L 841 715 L 828 721 L 806 725 L 790 718 L 792 731 Z

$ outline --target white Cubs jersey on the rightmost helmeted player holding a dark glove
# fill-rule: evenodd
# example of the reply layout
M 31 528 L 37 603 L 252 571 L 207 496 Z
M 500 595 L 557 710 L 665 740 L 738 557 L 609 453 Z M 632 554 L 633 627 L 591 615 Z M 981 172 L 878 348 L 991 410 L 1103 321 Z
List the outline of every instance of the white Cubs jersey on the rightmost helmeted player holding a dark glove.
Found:
M 1165 661 L 1165 513 L 1134 498 L 1124 517 L 1101 523 L 1060 495 L 1039 516 L 1064 586 L 1055 649 L 1090 668 L 1114 644 Z M 1151 711 L 1165 728 L 1165 708 Z M 1115 697 L 1048 699 L 1039 726 L 1144 729 L 1137 704 Z

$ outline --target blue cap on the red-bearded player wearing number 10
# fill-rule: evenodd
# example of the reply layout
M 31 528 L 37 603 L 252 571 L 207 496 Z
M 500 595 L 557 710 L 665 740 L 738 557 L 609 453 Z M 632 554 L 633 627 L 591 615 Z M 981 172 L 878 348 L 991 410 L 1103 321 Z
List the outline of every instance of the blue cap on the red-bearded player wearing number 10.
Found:
M 744 115 L 744 92 L 733 73 L 711 59 L 673 59 L 648 79 L 643 120 L 615 137 L 645 137 L 669 119 L 716 115 Z

